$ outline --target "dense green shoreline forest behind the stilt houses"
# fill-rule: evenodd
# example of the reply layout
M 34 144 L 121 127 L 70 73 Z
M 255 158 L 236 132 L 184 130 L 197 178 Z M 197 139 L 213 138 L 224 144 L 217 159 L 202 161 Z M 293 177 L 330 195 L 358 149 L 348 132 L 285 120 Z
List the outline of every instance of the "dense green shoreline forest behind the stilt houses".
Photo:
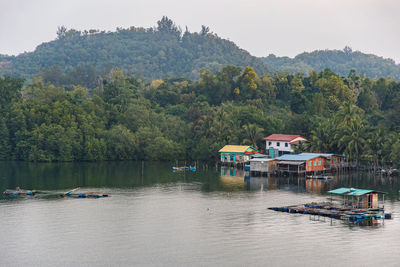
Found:
M 146 82 L 112 69 L 90 90 L 35 77 L 0 78 L 0 159 L 213 160 L 225 144 L 264 148 L 271 133 L 301 134 L 298 151 L 400 165 L 400 83 L 322 72 L 257 75 L 201 70 L 198 80 Z M 101 77 L 101 79 L 100 79 Z

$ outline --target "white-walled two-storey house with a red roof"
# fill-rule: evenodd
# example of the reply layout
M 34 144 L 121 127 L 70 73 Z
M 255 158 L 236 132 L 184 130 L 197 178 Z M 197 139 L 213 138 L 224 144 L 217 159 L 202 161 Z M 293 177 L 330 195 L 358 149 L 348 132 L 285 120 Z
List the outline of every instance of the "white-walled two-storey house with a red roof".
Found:
M 299 142 L 308 142 L 301 135 L 289 134 L 271 134 L 264 138 L 265 150 L 270 158 L 278 157 L 282 154 L 291 153 L 294 151 L 293 145 Z

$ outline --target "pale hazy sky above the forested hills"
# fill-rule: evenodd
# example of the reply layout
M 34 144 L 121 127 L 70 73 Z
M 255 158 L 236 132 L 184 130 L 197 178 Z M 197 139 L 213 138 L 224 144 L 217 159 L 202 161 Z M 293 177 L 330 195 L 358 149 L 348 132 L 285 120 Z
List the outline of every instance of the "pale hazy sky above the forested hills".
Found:
M 254 56 L 353 50 L 400 63 L 399 0 L 0 0 L 0 54 L 30 52 L 57 28 L 153 27 L 162 16 L 201 25 Z

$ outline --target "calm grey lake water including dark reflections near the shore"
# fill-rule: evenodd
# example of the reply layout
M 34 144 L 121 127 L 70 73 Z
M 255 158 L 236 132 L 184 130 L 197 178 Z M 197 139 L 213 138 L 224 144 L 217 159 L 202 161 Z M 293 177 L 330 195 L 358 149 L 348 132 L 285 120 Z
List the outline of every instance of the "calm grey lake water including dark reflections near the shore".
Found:
M 41 191 L 0 197 L 0 265 L 400 265 L 397 178 L 249 178 L 215 166 L 174 173 L 173 165 L 0 162 L 1 191 Z M 78 186 L 111 197 L 58 196 Z M 388 192 L 394 219 L 358 226 L 267 209 L 323 201 L 342 186 Z

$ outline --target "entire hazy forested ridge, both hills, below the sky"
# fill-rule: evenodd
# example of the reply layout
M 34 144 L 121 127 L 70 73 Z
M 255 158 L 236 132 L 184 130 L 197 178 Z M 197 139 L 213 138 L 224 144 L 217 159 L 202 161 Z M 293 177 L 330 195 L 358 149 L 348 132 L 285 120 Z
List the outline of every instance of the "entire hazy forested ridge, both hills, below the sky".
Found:
M 349 47 L 302 53 L 293 59 L 274 55 L 257 58 L 218 37 L 206 26 L 199 32 L 189 32 L 187 28 L 183 31 L 167 17 L 152 28 L 132 26 L 114 32 L 59 27 L 56 40 L 39 45 L 33 52 L 0 55 L 0 76 L 30 79 L 43 73 L 61 75 L 77 68 L 107 74 L 119 67 L 148 81 L 168 77 L 197 80 L 200 69 L 216 71 L 226 65 L 252 66 L 259 75 L 275 71 L 309 73 L 329 68 L 345 77 L 355 69 L 369 78 L 390 76 L 400 80 L 400 65 L 393 60 L 352 51 Z

